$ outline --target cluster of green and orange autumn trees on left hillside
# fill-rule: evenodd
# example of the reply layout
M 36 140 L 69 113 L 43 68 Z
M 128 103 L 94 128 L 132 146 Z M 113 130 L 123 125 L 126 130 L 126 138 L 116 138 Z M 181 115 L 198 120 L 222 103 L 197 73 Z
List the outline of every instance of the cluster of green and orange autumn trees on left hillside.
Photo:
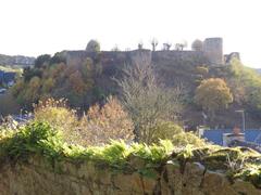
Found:
M 12 88 L 17 102 L 32 109 L 32 104 L 39 100 L 67 99 L 71 106 L 86 108 L 104 98 L 96 87 L 96 80 L 101 74 L 99 62 L 91 58 L 79 64 L 66 65 L 64 62 L 60 53 L 52 57 L 38 56 L 35 67 L 25 68 L 23 78 Z

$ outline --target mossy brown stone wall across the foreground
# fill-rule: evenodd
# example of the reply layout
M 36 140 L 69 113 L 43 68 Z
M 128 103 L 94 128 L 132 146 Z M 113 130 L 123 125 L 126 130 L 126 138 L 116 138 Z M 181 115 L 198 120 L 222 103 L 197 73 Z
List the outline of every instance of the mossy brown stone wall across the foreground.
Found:
M 181 167 L 167 161 L 152 176 L 138 171 L 116 171 L 94 162 L 57 162 L 41 158 L 29 162 L 2 165 L 1 195 L 260 195 L 261 191 L 244 181 L 229 182 L 225 174 L 207 170 L 198 162 Z

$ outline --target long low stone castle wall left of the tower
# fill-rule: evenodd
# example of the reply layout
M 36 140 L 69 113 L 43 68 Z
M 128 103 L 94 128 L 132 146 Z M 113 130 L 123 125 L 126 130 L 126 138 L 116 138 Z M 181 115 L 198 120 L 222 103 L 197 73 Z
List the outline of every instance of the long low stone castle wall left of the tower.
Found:
M 153 62 L 171 62 L 183 63 L 190 62 L 195 65 L 196 63 L 208 64 L 210 61 L 207 58 L 203 52 L 199 51 L 156 51 L 150 50 L 134 50 L 125 52 L 114 52 L 114 51 L 102 51 L 99 54 L 86 52 L 86 51 L 66 51 L 64 53 L 67 64 L 78 64 L 83 63 L 87 57 L 92 60 L 99 57 L 102 65 L 123 65 L 125 63 L 134 63 L 138 58 L 146 61 L 147 63 Z M 194 63 L 195 62 L 195 63 Z

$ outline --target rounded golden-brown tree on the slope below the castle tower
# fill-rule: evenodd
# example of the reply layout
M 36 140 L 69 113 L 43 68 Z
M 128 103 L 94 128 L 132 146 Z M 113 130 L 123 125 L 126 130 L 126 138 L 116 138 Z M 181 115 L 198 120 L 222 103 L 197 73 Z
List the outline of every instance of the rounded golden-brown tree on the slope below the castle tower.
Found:
M 211 114 L 220 108 L 226 108 L 233 102 L 233 95 L 226 82 L 221 78 L 210 78 L 202 80 L 196 89 L 195 101 L 198 105 Z

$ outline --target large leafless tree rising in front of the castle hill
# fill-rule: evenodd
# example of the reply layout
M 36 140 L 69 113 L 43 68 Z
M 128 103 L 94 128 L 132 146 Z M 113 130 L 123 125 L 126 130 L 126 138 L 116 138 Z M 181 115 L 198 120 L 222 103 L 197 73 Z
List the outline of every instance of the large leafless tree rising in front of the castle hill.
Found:
M 159 83 L 146 57 L 137 57 L 123 73 L 116 82 L 121 87 L 122 103 L 133 119 L 136 141 L 150 144 L 160 121 L 177 119 L 184 91 L 181 86 L 170 89 Z

